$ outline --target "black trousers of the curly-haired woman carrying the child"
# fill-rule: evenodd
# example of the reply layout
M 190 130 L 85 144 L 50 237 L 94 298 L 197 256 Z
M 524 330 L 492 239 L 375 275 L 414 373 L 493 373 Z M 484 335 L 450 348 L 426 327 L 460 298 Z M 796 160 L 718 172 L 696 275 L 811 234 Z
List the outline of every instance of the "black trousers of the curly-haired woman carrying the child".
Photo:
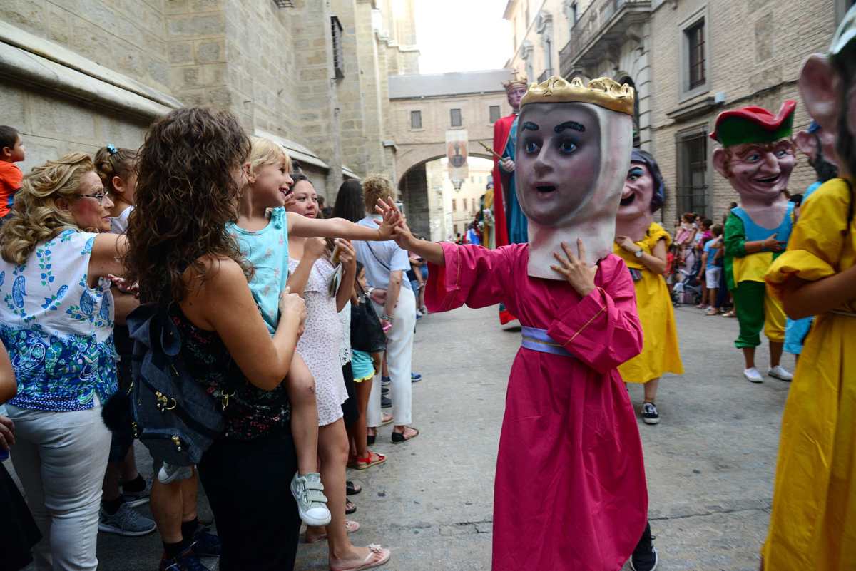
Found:
M 199 479 L 223 543 L 222 571 L 292 571 L 300 515 L 290 482 L 297 471 L 288 434 L 219 439 L 199 462 Z

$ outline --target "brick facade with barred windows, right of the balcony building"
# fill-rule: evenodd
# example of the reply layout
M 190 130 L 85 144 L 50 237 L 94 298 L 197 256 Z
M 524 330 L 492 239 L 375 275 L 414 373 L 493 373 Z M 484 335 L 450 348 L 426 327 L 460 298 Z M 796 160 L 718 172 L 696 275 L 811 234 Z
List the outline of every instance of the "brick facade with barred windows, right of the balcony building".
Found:
M 738 199 L 713 168 L 717 144 L 708 135 L 719 113 L 752 104 L 776 113 L 794 99 L 794 132 L 807 127 L 811 119 L 796 85 L 800 68 L 807 56 L 828 49 L 842 8 L 829 0 L 794 0 L 788 9 L 755 1 L 652 2 L 652 147 L 669 185 L 663 209 L 669 226 L 684 211 L 720 221 Z M 788 190 L 802 192 L 814 180 L 798 153 Z

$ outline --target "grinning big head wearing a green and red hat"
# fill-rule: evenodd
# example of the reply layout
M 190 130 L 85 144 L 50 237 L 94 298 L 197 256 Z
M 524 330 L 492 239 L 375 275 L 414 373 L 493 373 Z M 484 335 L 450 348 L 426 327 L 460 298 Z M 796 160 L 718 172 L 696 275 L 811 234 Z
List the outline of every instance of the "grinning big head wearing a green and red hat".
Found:
M 710 138 L 722 144 L 713 166 L 740 195 L 741 203 L 773 203 L 788 188 L 796 164 L 791 133 L 797 103 L 788 99 L 773 115 L 750 105 L 723 111 Z

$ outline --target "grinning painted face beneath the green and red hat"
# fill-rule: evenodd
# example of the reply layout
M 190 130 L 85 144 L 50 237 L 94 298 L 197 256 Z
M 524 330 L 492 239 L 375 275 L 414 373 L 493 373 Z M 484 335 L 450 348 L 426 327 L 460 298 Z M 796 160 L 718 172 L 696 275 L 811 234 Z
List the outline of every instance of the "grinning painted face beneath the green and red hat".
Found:
M 782 139 L 770 144 L 735 144 L 724 150 L 723 176 L 741 198 L 771 202 L 788 188 L 794 170 L 794 144 Z

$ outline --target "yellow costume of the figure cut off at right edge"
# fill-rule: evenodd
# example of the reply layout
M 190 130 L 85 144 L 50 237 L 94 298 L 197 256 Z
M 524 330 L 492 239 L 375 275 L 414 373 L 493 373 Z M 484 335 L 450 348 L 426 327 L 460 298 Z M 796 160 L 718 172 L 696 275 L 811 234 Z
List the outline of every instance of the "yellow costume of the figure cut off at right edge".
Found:
M 856 265 L 851 191 L 829 180 L 805 201 L 788 250 L 773 262 L 774 288 L 816 281 Z M 854 286 L 856 287 L 856 286 Z M 782 417 L 768 571 L 856 565 L 856 302 L 818 315 Z

